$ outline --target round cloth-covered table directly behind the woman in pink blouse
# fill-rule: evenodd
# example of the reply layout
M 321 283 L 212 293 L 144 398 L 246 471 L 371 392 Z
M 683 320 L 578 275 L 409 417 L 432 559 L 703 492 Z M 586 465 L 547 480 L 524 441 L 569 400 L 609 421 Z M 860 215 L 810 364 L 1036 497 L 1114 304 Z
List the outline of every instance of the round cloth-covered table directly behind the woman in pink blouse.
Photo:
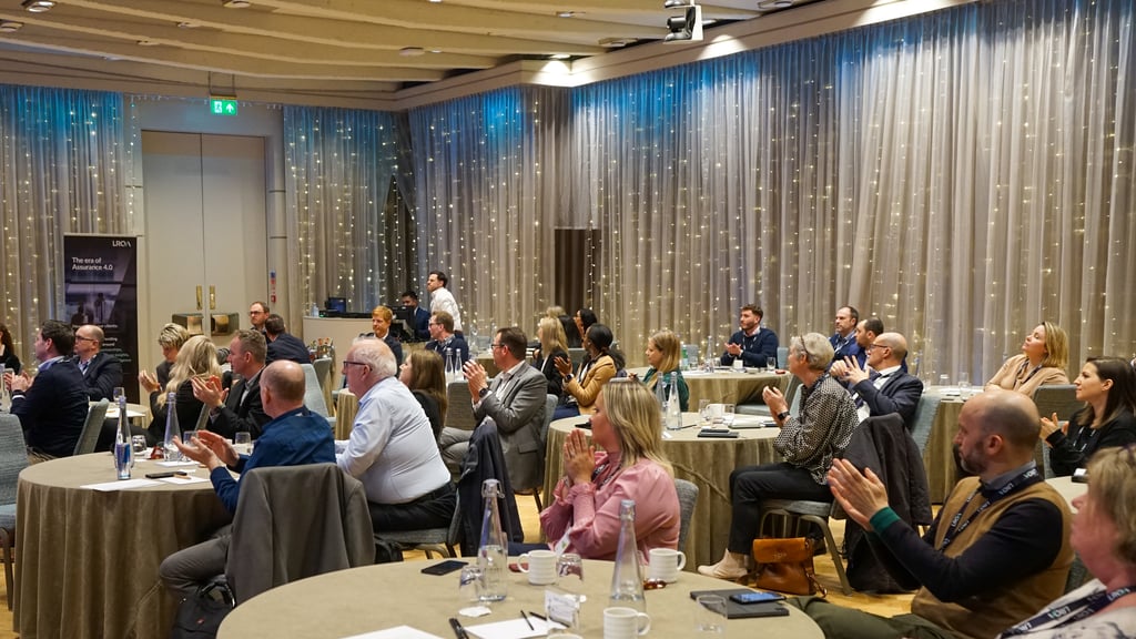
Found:
M 544 495 L 545 503 L 552 500 L 552 489 L 563 475 L 565 439 L 577 424 L 586 423 L 586 417 L 557 420 L 549 426 L 545 449 Z M 699 487 L 699 500 L 691 517 L 691 529 L 686 537 L 686 570 L 693 571 L 700 564 L 712 564 L 726 551 L 729 521 L 733 516 L 729 501 L 729 473 L 738 466 L 772 464 L 782 460 L 774 450 L 774 438 L 780 429 L 741 429 L 737 439 L 699 438 L 696 413 L 683 413 L 680 431 L 665 431 L 662 451 L 675 468 L 675 476 L 694 482 Z M 586 432 L 586 431 L 585 431 Z M 670 435 L 667 439 L 667 435 Z M 591 434 L 588 434 L 591 439 Z

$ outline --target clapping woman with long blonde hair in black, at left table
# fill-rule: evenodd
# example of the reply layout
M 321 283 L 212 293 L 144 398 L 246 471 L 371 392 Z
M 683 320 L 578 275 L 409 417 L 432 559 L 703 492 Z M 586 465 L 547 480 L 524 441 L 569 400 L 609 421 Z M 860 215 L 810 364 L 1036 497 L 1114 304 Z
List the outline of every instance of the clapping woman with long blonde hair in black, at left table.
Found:
M 220 366 L 217 364 L 217 347 L 204 335 L 193 335 L 177 352 L 177 360 L 169 372 L 169 383 L 165 388 L 158 385 L 158 380 L 150 373 L 139 373 L 139 383 L 150 393 L 150 413 L 153 421 L 147 430 L 150 443 L 157 443 L 166 438 L 167 395 L 173 392 L 177 401 L 177 425 L 184 431 L 198 423 L 198 416 L 204 403 L 193 396 L 193 379 L 208 380 L 220 377 Z

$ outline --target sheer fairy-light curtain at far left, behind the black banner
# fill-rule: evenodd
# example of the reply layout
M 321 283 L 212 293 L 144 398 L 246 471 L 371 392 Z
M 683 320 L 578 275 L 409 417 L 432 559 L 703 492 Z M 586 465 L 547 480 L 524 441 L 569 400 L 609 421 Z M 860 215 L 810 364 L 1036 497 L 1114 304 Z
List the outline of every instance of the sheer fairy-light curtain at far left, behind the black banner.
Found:
M 0 85 L 0 321 L 24 357 L 65 317 L 64 233 L 134 232 L 124 130 L 119 94 Z

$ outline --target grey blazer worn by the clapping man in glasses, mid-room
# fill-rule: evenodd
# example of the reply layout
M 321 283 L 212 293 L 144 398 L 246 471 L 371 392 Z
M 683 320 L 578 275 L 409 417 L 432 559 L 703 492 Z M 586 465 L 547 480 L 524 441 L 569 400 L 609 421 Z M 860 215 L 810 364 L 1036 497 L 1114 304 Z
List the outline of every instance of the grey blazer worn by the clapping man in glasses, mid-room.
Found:
M 496 422 L 509 482 L 515 490 L 526 490 L 544 482 L 541 426 L 544 425 L 548 381 L 540 371 L 527 365 L 509 383 L 504 383 L 503 377 L 501 374 L 490 382 L 493 392 L 474 410 L 474 418 L 481 423 L 485 417 L 493 417 Z M 506 387 L 503 395 L 499 392 L 502 384 Z

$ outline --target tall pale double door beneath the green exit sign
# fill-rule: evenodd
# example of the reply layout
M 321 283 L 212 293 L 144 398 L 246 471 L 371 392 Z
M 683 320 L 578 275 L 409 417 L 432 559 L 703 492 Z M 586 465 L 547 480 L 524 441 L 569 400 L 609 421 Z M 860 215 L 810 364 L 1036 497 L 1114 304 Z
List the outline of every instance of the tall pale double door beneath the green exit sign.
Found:
M 152 341 L 175 314 L 236 314 L 268 291 L 262 138 L 142 132 Z M 228 334 L 214 335 L 228 346 Z M 143 364 L 145 367 L 145 364 Z

